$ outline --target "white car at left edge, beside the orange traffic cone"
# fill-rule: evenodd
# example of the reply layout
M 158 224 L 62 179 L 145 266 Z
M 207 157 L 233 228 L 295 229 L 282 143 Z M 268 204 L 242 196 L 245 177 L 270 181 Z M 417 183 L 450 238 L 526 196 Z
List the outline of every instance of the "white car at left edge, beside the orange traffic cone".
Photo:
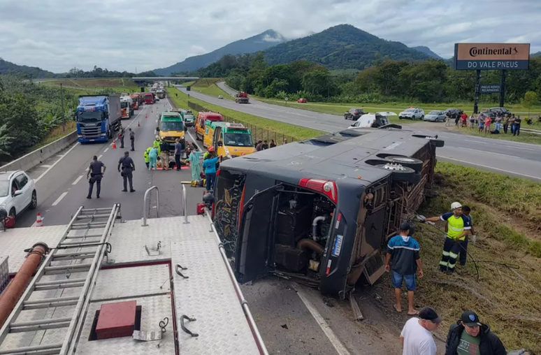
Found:
M 8 215 L 17 216 L 29 208 L 38 207 L 36 184 L 22 170 L 0 173 L 0 209 Z

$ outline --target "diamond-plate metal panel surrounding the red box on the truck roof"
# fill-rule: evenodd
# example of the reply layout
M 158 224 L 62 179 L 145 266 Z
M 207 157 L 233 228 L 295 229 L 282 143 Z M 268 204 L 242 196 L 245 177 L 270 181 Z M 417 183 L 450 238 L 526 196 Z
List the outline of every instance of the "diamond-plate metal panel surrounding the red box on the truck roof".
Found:
M 137 305 L 142 306 L 141 311 L 141 331 L 159 331 L 159 321 L 168 317 L 169 324 L 166 328 L 164 338 L 153 342 L 142 342 L 134 340 L 131 337 L 113 338 L 105 340 L 89 341 L 88 337 L 94 321 L 94 314 L 99 310 L 102 303 L 108 302 L 93 302 L 85 319 L 85 325 L 82 328 L 82 333 L 77 345 L 75 354 L 81 355 L 174 355 L 175 354 L 175 338 L 173 336 L 173 312 L 171 312 L 171 296 L 152 296 L 142 298 L 128 298 L 124 300 L 136 300 Z M 158 347 L 159 345 L 159 347 Z M 183 353 L 184 354 L 184 353 Z

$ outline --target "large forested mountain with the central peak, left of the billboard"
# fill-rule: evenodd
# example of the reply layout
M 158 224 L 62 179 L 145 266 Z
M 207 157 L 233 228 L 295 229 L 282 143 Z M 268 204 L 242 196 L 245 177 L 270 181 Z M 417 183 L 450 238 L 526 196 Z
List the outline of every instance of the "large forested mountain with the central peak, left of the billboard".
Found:
M 377 53 L 380 58 L 389 56 L 398 60 L 430 58 L 403 43 L 385 41 L 350 24 L 340 24 L 312 36 L 275 45 L 265 50 L 264 55 L 269 65 L 304 59 L 330 69 L 363 69 L 377 59 Z

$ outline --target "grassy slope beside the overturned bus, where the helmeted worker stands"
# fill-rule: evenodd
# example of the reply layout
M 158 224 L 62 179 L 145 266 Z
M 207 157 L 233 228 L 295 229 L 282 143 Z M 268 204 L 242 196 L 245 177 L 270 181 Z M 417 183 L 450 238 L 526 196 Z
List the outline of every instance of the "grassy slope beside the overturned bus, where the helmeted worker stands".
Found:
M 440 273 L 445 236 L 432 226 L 417 224 L 415 238 L 421 245 L 425 275 L 418 282 L 416 304 L 430 305 L 442 314 L 441 338 L 463 310 L 475 310 L 508 350 L 524 347 L 540 352 L 541 184 L 442 162 L 436 171 L 440 195 L 428 200 L 421 213 L 432 217 L 447 212 L 454 201 L 472 208 L 477 242 L 470 242 L 468 252 L 479 261 L 479 280 L 470 256 L 466 266 L 457 263 L 455 275 Z M 437 227 L 442 230 L 444 225 L 438 222 Z M 390 283 L 387 274 L 377 291 L 386 294 L 386 310 L 396 317 Z

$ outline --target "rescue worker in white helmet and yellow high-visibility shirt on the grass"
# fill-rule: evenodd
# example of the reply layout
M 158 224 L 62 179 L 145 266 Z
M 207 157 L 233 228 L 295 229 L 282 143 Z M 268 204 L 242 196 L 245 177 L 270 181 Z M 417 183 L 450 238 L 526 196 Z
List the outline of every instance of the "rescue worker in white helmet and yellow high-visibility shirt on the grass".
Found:
M 466 239 L 472 225 L 470 218 L 462 214 L 462 205 L 458 202 L 451 204 L 453 212 L 447 212 L 440 217 L 426 218 L 426 222 L 437 222 L 438 220 L 447 221 L 447 238 L 443 245 L 442 260 L 440 261 L 440 271 L 451 275 L 454 273 L 456 258 L 459 257 L 461 242 Z

